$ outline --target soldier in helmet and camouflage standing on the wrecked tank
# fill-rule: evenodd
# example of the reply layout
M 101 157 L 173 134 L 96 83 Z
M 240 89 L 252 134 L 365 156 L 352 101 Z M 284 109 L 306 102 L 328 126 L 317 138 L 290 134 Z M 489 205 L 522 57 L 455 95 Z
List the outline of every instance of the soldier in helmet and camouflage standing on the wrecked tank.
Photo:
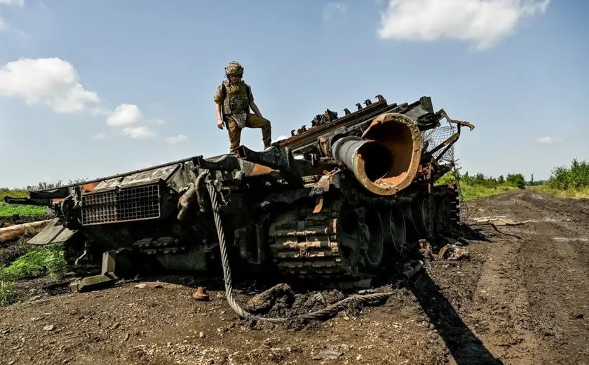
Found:
M 231 61 L 225 67 L 225 76 L 227 79 L 217 88 L 214 100 L 217 127 L 223 129 L 223 124 L 226 124 L 229 131 L 230 152 L 237 154 L 243 127 L 262 128 L 264 149 L 270 147 L 272 141 L 270 121 L 262 117 L 262 113 L 254 102 L 252 89 L 241 79 L 243 67 L 238 62 Z M 250 113 L 250 107 L 255 114 Z

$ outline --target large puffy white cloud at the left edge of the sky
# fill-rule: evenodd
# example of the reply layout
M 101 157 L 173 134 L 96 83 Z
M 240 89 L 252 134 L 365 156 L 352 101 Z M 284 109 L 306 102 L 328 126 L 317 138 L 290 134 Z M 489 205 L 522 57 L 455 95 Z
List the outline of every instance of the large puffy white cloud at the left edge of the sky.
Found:
M 0 96 L 19 96 L 57 113 L 86 112 L 100 102 L 86 90 L 71 63 L 60 58 L 21 58 L 0 68 Z

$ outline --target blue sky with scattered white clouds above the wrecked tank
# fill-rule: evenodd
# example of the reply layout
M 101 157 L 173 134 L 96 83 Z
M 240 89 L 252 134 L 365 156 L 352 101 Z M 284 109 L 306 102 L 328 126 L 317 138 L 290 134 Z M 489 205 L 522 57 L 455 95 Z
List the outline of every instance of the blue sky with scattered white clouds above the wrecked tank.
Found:
M 462 171 L 547 179 L 589 160 L 588 17 L 584 0 L 0 0 L 0 187 L 229 152 L 212 98 L 231 60 L 273 140 L 427 95 L 475 124 Z

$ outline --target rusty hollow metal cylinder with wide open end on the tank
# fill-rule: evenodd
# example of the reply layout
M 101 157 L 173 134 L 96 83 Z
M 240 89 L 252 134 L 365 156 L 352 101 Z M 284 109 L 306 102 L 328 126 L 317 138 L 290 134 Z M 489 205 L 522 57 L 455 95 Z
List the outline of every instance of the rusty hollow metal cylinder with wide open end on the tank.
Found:
M 415 121 L 403 114 L 381 114 L 362 137 L 347 136 L 332 142 L 332 155 L 353 171 L 367 190 L 391 196 L 409 186 L 417 173 L 421 133 Z

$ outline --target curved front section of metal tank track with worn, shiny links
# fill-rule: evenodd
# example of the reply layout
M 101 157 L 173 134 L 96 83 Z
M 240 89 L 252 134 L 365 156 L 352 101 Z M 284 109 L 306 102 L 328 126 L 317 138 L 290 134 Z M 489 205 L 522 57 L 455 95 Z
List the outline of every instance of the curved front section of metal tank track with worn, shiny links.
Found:
M 301 279 L 355 276 L 337 239 L 340 206 L 338 201 L 318 213 L 302 206 L 278 216 L 269 233 L 273 262 L 280 272 Z

